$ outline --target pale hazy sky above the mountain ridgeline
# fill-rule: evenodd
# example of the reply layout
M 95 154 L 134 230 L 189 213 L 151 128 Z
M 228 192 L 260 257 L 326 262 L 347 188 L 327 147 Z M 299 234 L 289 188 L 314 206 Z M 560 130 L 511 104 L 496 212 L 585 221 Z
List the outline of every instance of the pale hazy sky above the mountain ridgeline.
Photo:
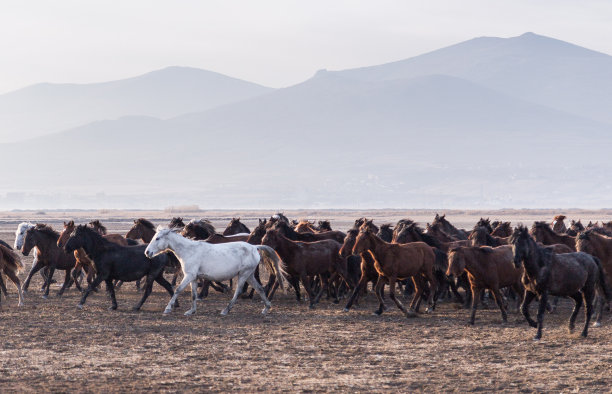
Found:
M 612 2 L 2 0 L 0 93 L 170 65 L 271 87 L 526 31 L 612 54 Z

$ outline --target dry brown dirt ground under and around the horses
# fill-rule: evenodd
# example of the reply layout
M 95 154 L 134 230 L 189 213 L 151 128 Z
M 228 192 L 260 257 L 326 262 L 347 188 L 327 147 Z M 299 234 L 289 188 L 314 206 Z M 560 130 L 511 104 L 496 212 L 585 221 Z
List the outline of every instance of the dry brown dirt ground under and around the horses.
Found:
M 10 244 L 21 220 L 12 215 L 0 214 L 0 238 Z M 115 212 L 106 219 L 95 212 L 60 215 L 21 217 L 56 229 L 61 219 L 102 217 L 112 231 L 125 233 L 130 215 L 162 222 L 172 213 Z M 347 228 L 357 216 L 363 215 L 338 215 L 332 225 Z M 529 224 L 531 216 L 523 216 L 520 219 Z M 391 213 L 382 219 L 397 218 Z M 219 229 L 225 219 L 215 218 Z M 467 215 L 457 222 L 471 227 L 476 220 Z M 247 224 L 254 221 L 252 217 Z M 29 269 L 31 256 L 24 261 Z M 22 280 L 25 276 L 20 275 Z M 466 325 L 468 311 L 450 301 L 413 319 L 395 307 L 382 317 L 373 316 L 376 302 L 371 293 L 349 313 L 328 300 L 309 310 L 293 293 L 277 293 L 268 316 L 260 314 L 259 301 L 241 299 L 222 317 L 219 312 L 230 295 L 212 291 L 198 303 L 196 315 L 187 317 L 183 312 L 189 308 L 188 291 L 180 297 L 181 306 L 164 316 L 168 295 L 157 285 L 140 312 L 130 310 L 140 297 L 132 283 L 117 292 L 116 311 L 107 310 L 110 301 L 103 291 L 92 294 L 78 310 L 80 294 L 74 287 L 58 298 L 59 288 L 53 285 L 51 297 L 43 300 L 40 285 L 37 274 L 24 307 L 17 307 L 12 284 L 9 298 L 2 299 L 2 391 L 609 392 L 612 387 L 611 315 L 581 339 L 580 330 L 567 331 L 568 300 L 546 315 L 544 338 L 534 342 L 535 330 L 522 317 L 512 312 L 502 325 L 493 303 L 478 311 L 474 327 Z M 582 321 L 581 313 L 578 324 Z

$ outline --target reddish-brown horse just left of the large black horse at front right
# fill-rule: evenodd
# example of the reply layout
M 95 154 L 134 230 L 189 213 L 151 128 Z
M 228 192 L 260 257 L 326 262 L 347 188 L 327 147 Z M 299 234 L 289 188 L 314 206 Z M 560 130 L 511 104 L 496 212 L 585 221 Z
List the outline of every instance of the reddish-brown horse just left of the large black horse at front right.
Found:
M 502 314 L 503 323 L 508 322 L 508 314 L 502 299 L 500 289 L 512 287 L 516 294 L 523 294 L 521 276 L 523 270 L 514 267 L 512 247 L 508 245 L 490 248 L 488 246 L 471 246 L 452 249 L 448 253 L 447 275 L 459 277 L 463 271 L 468 274 L 472 294 L 478 295 L 484 289 L 493 293 L 495 302 Z M 476 308 L 480 297 L 472 297 L 472 314 L 470 324 L 474 324 Z M 520 299 L 518 303 L 520 304 Z M 517 305 L 518 309 L 518 305 Z

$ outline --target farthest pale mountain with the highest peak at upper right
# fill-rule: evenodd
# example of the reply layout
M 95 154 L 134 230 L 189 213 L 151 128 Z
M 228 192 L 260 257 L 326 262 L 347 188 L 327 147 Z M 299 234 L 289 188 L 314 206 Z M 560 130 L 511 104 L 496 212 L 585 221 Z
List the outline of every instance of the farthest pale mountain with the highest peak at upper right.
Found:
M 336 73 L 364 81 L 444 74 L 612 124 L 612 56 L 534 33 L 475 38 L 413 58 Z

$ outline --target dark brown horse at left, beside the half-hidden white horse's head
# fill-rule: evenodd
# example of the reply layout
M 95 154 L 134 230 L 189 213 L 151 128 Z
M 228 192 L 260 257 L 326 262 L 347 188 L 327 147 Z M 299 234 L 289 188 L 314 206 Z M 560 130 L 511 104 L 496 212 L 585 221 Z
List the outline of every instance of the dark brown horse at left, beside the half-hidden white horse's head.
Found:
M 63 249 L 57 246 L 57 240 L 59 239 L 59 233 L 46 224 L 36 224 L 36 226 L 26 231 L 25 238 L 23 240 L 23 246 L 21 247 L 21 253 L 24 256 L 30 254 L 30 251 L 35 247 L 39 251 L 38 259 L 35 265 L 32 265 L 28 276 L 23 283 L 23 292 L 28 290 L 32 275 L 38 272 L 44 266 L 49 267 L 49 274 L 44 284 L 44 294 L 42 298 L 49 297 L 49 287 L 51 286 L 51 278 L 56 269 L 66 271 L 64 278 L 64 284 L 60 289 L 58 296 L 61 297 L 64 291 L 68 288 L 70 283 L 70 272 L 76 264 L 76 259 L 73 253 L 66 253 Z M 75 282 L 75 286 L 81 291 L 81 286 L 78 282 Z

